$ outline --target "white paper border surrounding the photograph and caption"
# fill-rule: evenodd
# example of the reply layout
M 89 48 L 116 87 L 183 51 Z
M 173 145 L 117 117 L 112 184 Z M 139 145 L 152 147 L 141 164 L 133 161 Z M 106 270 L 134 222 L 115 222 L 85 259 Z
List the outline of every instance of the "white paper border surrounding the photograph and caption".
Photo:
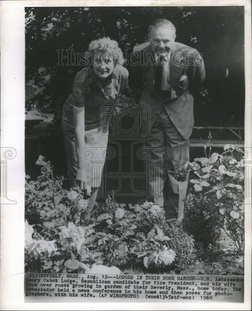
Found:
M 245 284 L 243 304 L 127 302 L 24 303 L 24 179 L 25 179 L 25 7 L 136 6 L 130 1 L 2 1 L 1 2 L 1 147 L 14 148 L 16 156 L 7 162 L 8 199 L 1 205 L 1 309 L 3 310 L 249 310 L 251 308 L 251 180 L 245 201 Z M 139 1 L 137 6 L 164 6 L 161 1 Z M 250 1 L 178 1 L 172 6 L 245 7 L 245 146 L 251 157 L 252 61 Z M 14 151 L 14 153 L 15 153 Z M 1 159 L 2 160 L 2 159 Z M 251 162 L 252 163 L 252 162 Z M 250 167 L 251 171 L 251 167 Z

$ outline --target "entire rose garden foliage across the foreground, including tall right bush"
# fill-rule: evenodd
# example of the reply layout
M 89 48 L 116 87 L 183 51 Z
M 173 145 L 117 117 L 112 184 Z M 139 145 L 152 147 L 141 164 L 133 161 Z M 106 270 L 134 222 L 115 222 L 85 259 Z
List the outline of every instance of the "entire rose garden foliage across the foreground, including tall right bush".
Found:
M 220 229 L 244 251 L 245 161 L 233 145 L 174 172 L 181 181 L 189 171 L 196 176 L 189 178 L 182 228 L 169 226 L 163 208 L 152 202 L 126 206 L 113 197 L 94 208 L 91 224 L 82 225 L 83 193 L 63 189 L 63 177 L 54 178 L 50 161 L 40 156 L 36 163 L 41 175 L 36 181 L 26 176 L 26 271 L 179 272 L 203 248 L 215 247 Z

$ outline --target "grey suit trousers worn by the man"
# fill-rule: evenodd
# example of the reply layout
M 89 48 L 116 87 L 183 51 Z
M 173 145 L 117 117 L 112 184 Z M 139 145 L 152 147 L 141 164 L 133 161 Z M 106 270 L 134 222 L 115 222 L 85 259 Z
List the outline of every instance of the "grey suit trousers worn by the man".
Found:
M 181 220 L 189 176 L 186 181 L 178 182 L 173 177 L 173 172 L 189 161 L 189 138 L 182 137 L 165 108 L 154 122 L 151 135 L 146 137 L 146 147 L 151 153 L 150 161 L 154 166 L 154 169 L 148 172 L 151 196 L 156 204 L 164 207 L 167 221 Z M 162 165 L 158 165 L 162 158 L 162 148 L 169 148 L 170 154 L 166 154 Z

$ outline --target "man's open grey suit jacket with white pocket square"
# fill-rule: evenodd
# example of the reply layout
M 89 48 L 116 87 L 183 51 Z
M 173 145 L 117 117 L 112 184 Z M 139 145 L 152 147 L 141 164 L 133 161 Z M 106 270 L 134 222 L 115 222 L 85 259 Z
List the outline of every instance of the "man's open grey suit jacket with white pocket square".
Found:
M 173 43 L 170 56 L 171 95 L 170 98 L 163 98 L 154 90 L 156 64 L 151 45 L 137 45 L 133 53 L 132 70 L 142 79 L 144 86 L 141 101 L 150 106 L 149 118 L 141 118 L 142 134 L 148 134 L 162 107 L 165 107 L 180 134 L 184 139 L 189 138 L 194 126 L 194 98 L 191 90 L 201 86 L 205 79 L 205 67 L 200 54 L 187 45 Z

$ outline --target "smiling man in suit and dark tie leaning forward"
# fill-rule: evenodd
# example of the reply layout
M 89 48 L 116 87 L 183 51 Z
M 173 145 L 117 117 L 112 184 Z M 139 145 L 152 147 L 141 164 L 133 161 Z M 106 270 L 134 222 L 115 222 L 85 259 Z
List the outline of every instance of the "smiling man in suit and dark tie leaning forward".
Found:
M 170 21 L 154 21 L 148 29 L 149 42 L 134 47 L 131 64 L 133 73 L 143 81 L 141 101 L 150 106 L 150 119 L 141 123 L 150 160 L 159 160 L 162 148 L 170 150 L 162 168 L 157 166 L 149 174 L 151 196 L 164 206 L 167 222 L 180 226 L 188 177 L 178 182 L 173 172 L 189 161 L 194 126 L 192 92 L 203 83 L 205 68 L 196 49 L 175 42 L 175 32 Z

